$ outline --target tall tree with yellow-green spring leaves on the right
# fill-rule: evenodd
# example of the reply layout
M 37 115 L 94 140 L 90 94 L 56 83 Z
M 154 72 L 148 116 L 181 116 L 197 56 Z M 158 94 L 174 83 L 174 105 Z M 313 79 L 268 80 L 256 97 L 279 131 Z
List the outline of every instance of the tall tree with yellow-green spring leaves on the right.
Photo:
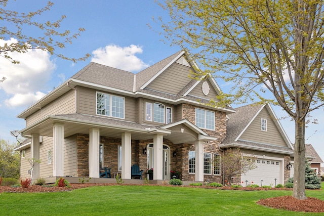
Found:
M 320 0 L 160 3 L 171 17 L 168 23 L 161 20 L 166 38 L 194 49 L 192 55 L 207 68 L 198 72 L 214 72 L 215 77 L 235 83 L 232 94 L 222 94 L 211 105 L 257 97 L 262 103 L 280 105 L 294 119 L 297 199 L 307 199 L 301 175 L 305 125 L 311 121 L 309 113 L 324 105 L 323 4 Z

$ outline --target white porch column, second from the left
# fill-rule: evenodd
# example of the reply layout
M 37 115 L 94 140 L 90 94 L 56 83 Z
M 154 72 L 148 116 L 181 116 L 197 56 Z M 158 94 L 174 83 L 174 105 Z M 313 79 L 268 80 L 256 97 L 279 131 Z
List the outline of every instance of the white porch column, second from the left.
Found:
M 54 165 L 53 176 L 64 176 L 64 124 L 53 124 Z

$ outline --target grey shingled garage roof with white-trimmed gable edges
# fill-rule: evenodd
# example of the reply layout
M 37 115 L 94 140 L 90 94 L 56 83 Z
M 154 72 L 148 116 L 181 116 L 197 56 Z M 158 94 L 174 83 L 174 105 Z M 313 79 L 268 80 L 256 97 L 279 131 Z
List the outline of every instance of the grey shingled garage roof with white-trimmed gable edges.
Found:
M 242 134 L 246 132 L 253 120 L 263 109 L 266 109 L 271 119 L 273 119 L 277 131 L 279 132 L 279 136 L 281 136 L 281 138 L 284 140 L 286 146 L 269 145 L 266 141 L 261 143 L 240 139 Z M 235 146 L 249 149 L 267 150 L 270 152 L 280 151 L 282 153 L 293 154 L 293 145 L 289 141 L 288 136 L 286 135 L 280 122 L 277 120 L 277 117 L 269 104 L 246 105 L 239 108 L 235 108 L 235 111 L 235 113 L 231 113 L 228 115 L 229 119 L 227 121 L 227 137 L 220 145 L 221 148 Z

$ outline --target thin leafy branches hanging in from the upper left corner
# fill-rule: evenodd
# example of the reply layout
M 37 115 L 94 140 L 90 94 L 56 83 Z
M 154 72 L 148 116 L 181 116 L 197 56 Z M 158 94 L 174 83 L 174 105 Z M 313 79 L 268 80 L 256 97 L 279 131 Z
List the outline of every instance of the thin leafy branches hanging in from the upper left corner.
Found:
M 85 31 L 84 28 L 79 28 L 76 33 L 71 33 L 70 30 L 60 31 L 60 25 L 66 16 L 62 15 L 60 19 L 51 22 L 37 22 L 38 16 L 44 14 L 44 12 L 50 11 L 54 5 L 52 2 L 48 2 L 44 8 L 39 10 L 19 13 L 16 11 L 6 10 L 6 6 L 9 0 L 0 1 L 0 39 L 15 38 L 16 41 L 11 44 L 4 44 L 0 46 L 0 56 L 10 60 L 12 63 L 19 63 L 17 60 L 12 59 L 11 53 L 26 53 L 28 50 L 39 49 L 49 52 L 51 55 L 56 55 L 62 59 L 71 60 L 73 62 L 86 60 L 90 57 L 90 54 L 86 54 L 80 58 L 69 58 L 62 54 L 57 53 L 58 48 L 65 48 L 65 45 L 72 44 L 72 40 L 76 39 L 81 32 Z M 10 27 L 9 27 L 10 26 Z M 39 32 L 38 37 L 32 37 L 24 34 L 24 28 L 28 27 L 36 32 Z M 4 81 L 5 77 L 0 80 Z

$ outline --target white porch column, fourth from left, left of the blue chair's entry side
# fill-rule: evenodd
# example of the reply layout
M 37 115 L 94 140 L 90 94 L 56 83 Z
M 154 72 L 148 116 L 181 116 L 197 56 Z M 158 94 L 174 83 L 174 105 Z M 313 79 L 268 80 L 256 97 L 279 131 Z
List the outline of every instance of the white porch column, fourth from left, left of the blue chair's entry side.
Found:
M 121 134 L 121 179 L 132 179 L 132 134 Z

